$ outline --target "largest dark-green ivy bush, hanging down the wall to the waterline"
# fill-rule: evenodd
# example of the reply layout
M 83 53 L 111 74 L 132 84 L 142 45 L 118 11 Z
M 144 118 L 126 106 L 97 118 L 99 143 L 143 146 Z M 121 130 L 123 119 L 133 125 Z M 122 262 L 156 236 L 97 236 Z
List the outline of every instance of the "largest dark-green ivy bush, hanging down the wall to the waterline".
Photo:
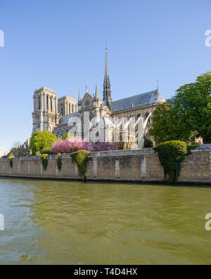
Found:
M 177 183 L 181 171 L 181 162 L 188 154 L 187 144 L 184 141 L 166 141 L 160 143 L 154 150 L 158 153 L 165 177 L 169 174 L 169 182 Z

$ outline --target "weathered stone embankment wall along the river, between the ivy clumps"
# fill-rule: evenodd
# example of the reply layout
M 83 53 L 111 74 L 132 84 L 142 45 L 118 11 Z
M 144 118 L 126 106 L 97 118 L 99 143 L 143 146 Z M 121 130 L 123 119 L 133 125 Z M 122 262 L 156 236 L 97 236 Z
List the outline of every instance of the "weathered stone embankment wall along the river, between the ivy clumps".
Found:
M 91 153 L 87 163 L 87 180 L 125 182 L 165 182 L 163 167 L 153 149 L 116 150 Z M 58 170 L 56 155 L 49 156 L 44 170 L 39 156 L 14 158 L 11 168 L 7 159 L 0 160 L 1 177 L 30 177 L 44 179 L 80 179 L 77 165 L 70 155 L 63 155 Z M 211 184 L 211 144 L 200 146 L 186 156 L 179 182 Z

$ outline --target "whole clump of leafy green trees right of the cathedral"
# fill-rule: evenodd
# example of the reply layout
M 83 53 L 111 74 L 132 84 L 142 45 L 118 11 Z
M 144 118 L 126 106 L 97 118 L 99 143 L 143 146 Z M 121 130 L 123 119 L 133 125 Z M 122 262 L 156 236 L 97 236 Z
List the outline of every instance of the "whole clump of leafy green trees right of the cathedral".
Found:
M 150 133 L 157 143 L 193 143 L 199 137 L 211 143 L 211 72 L 181 86 L 169 102 L 159 105 Z

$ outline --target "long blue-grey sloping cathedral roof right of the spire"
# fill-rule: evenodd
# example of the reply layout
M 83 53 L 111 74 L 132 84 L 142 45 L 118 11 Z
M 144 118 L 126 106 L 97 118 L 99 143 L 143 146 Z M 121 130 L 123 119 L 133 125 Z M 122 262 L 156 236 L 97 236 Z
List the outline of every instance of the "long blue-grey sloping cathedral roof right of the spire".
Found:
M 132 109 L 132 107 L 141 107 L 155 103 L 166 102 L 165 98 L 160 95 L 157 90 L 148 93 L 134 95 L 121 100 L 112 102 L 112 112 L 118 112 L 124 109 Z

